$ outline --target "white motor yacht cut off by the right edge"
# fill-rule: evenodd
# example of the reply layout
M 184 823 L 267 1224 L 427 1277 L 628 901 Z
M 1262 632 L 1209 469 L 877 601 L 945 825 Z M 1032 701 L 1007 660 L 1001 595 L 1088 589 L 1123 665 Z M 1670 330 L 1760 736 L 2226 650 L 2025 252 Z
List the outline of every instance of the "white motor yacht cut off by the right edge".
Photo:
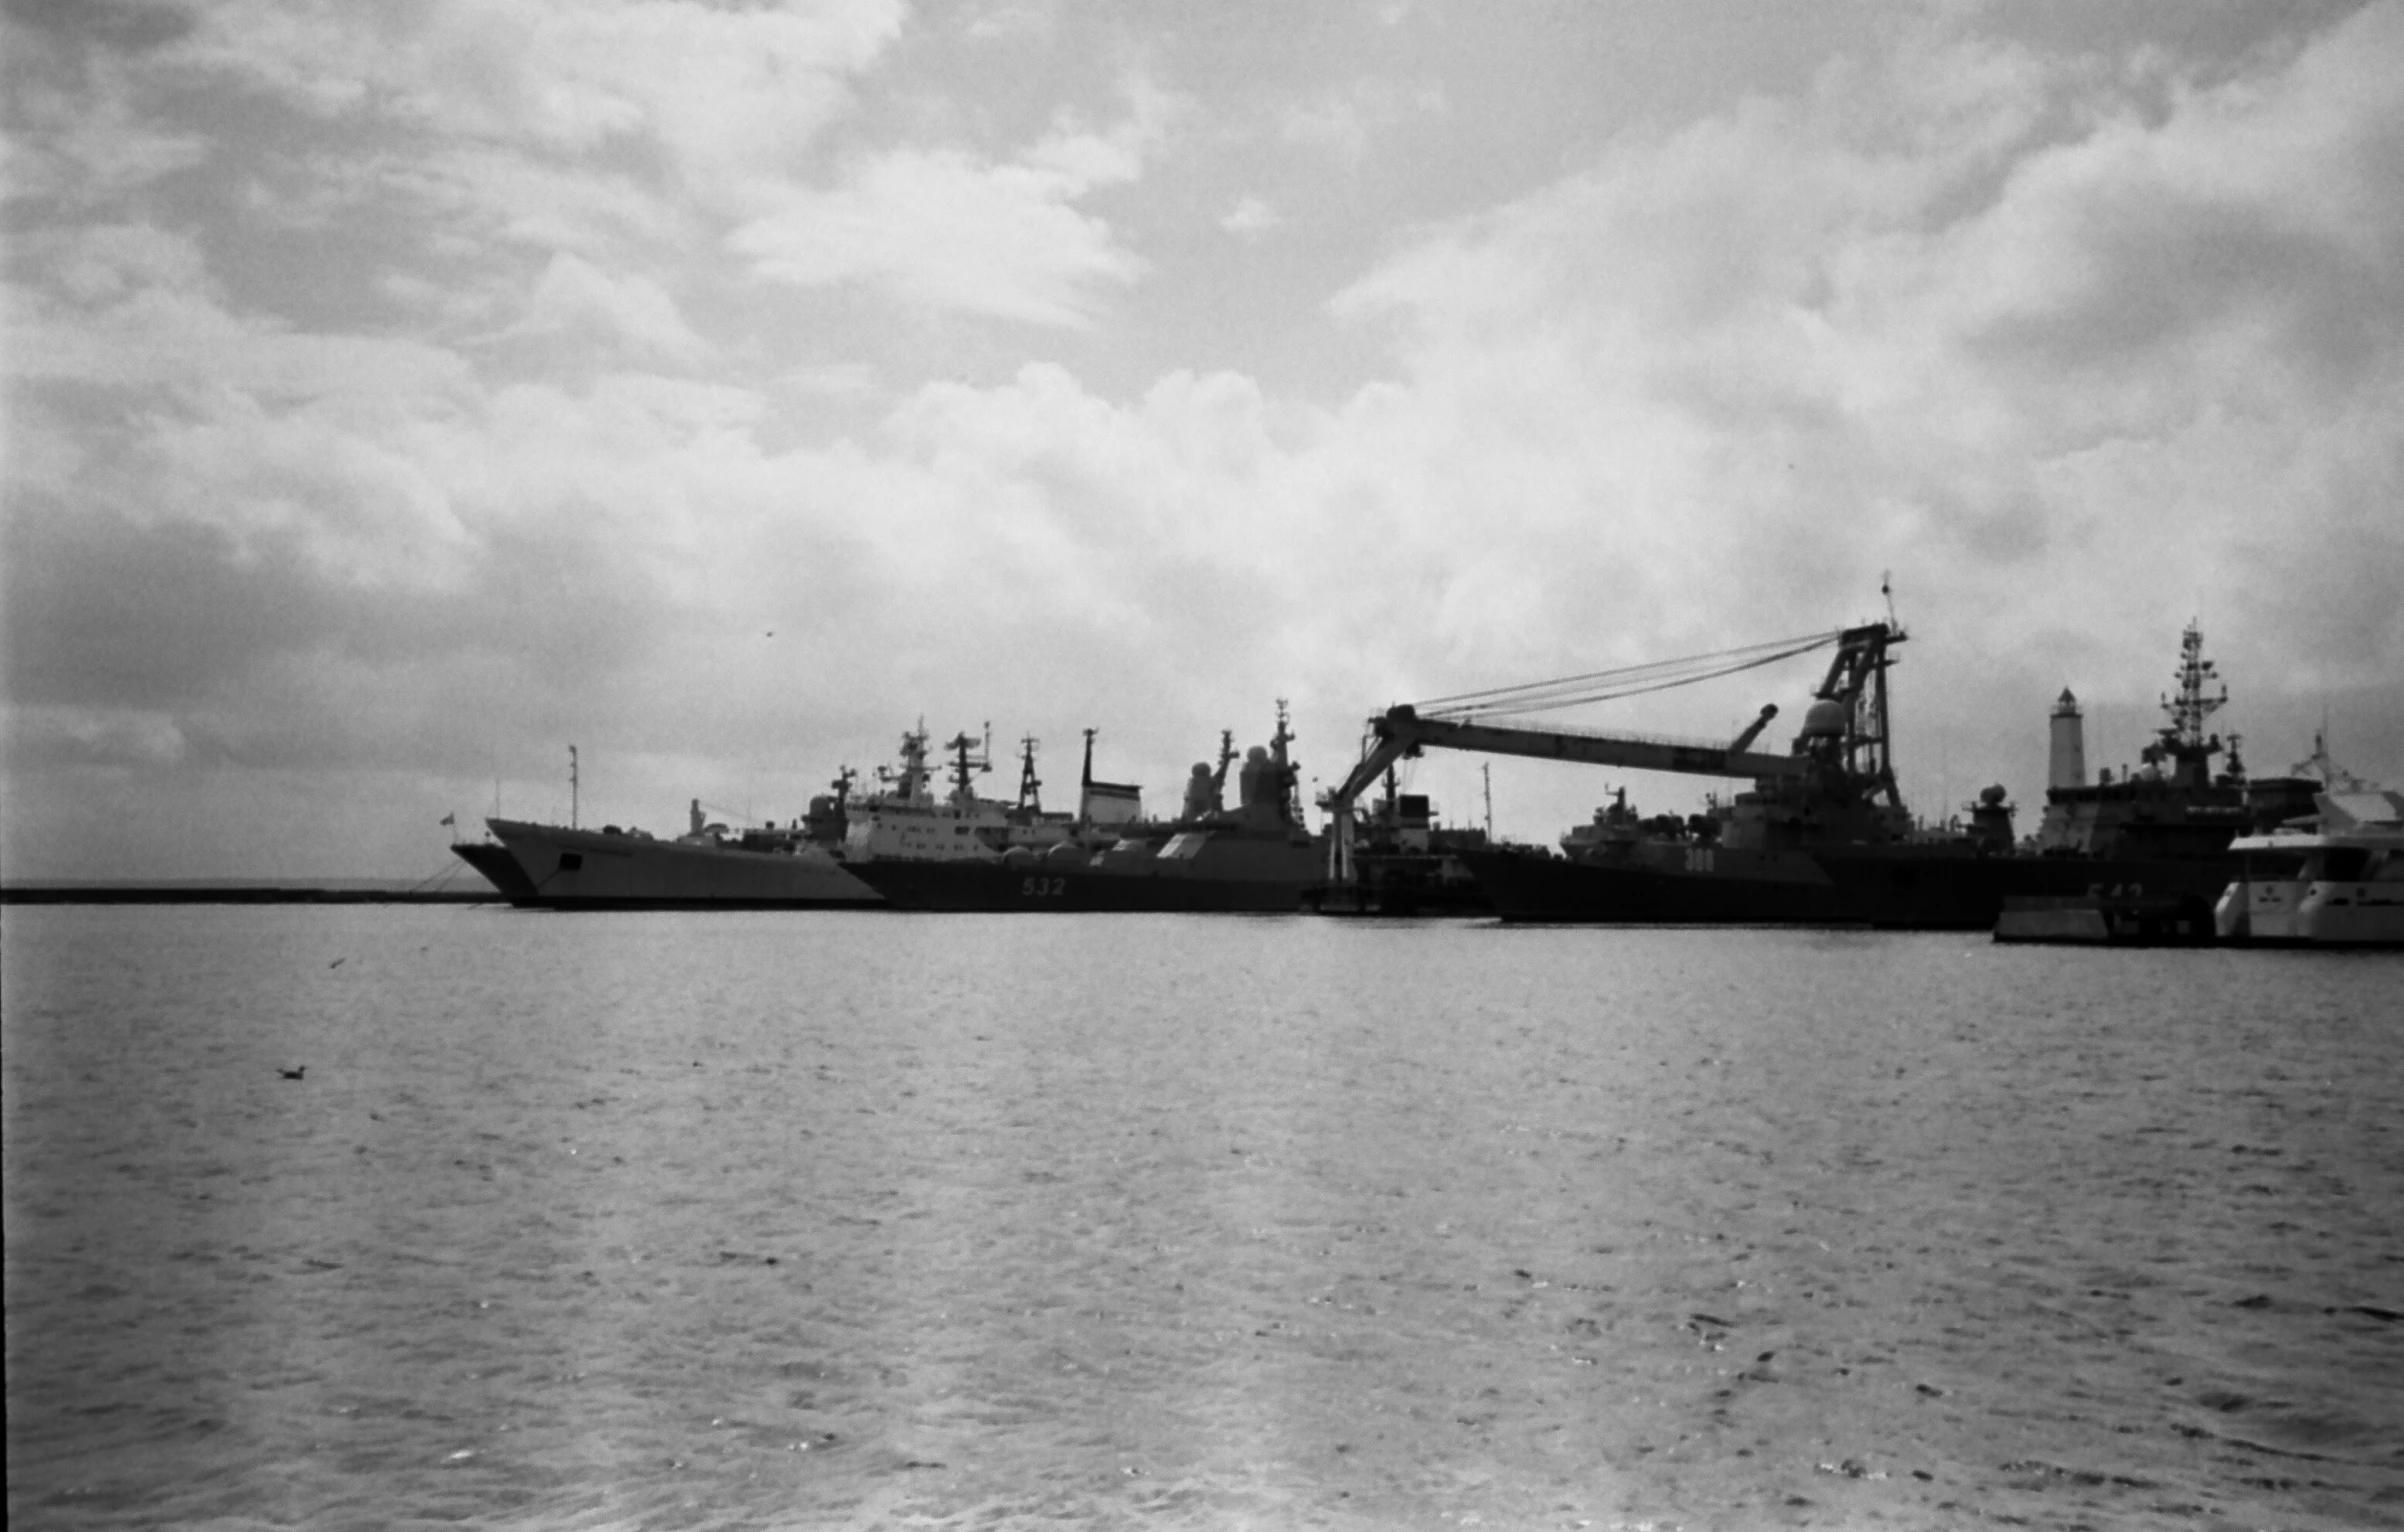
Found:
M 2404 948 L 2404 794 L 2332 786 L 2303 825 L 2241 835 L 2214 909 L 2231 945 Z

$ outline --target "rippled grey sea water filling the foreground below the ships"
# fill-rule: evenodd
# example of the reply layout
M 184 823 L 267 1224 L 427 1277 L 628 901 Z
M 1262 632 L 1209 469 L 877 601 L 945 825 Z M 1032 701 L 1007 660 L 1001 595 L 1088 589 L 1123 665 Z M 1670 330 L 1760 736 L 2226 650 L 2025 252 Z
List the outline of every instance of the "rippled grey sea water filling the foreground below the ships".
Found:
M 14 1527 L 2404 1525 L 2397 955 L 0 936 Z

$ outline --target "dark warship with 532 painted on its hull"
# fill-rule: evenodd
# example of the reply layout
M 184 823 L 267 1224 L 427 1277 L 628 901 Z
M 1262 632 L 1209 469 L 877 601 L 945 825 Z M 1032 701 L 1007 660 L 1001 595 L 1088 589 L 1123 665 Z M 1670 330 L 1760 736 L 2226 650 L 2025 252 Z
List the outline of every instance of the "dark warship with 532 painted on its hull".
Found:
M 1221 791 L 1233 743 L 1221 736 L 1219 767 L 1195 765 L 1183 813 L 1171 823 L 1103 823 L 1096 815 L 1130 803 L 1132 789 L 1094 782 L 1091 734 L 1079 813 L 1053 823 L 1031 796 L 1039 784 L 1029 741 L 1022 810 L 1034 820 L 1014 825 L 1005 815 L 983 835 L 935 842 L 935 856 L 877 854 L 853 861 L 851 871 L 894 909 L 1291 914 L 1320 866 L 1317 844 L 1301 820 L 1301 774 L 1286 753 L 1291 741 L 1286 705 L 1279 702 L 1277 734 L 1267 748 L 1245 753 L 1240 806 L 1226 810 Z M 969 765 L 959 755 L 954 798 L 964 791 Z M 1096 786 L 1113 791 L 1094 794 Z M 1022 825 L 1034 825 L 1034 832 L 1022 832 Z

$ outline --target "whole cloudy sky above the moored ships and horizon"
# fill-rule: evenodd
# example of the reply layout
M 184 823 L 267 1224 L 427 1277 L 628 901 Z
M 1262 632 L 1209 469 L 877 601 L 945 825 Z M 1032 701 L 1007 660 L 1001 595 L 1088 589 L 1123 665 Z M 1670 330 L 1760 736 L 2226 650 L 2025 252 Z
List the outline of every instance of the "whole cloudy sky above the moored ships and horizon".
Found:
M 1291 705 L 1890 611 L 1921 815 L 2404 784 L 2404 5 L 7 0 L 0 863 L 784 820 L 921 719 L 1173 808 Z M 1726 738 L 1815 659 L 1565 722 Z M 1553 842 L 1697 777 L 1430 753 Z

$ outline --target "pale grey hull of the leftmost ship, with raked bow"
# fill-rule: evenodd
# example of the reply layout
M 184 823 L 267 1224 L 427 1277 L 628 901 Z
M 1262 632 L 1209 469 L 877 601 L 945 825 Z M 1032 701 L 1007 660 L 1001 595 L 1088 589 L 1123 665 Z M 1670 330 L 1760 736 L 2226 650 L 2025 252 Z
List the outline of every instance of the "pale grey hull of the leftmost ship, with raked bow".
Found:
M 825 851 L 745 851 L 488 820 L 507 847 L 522 909 L 868 909 L 877 892 Z

